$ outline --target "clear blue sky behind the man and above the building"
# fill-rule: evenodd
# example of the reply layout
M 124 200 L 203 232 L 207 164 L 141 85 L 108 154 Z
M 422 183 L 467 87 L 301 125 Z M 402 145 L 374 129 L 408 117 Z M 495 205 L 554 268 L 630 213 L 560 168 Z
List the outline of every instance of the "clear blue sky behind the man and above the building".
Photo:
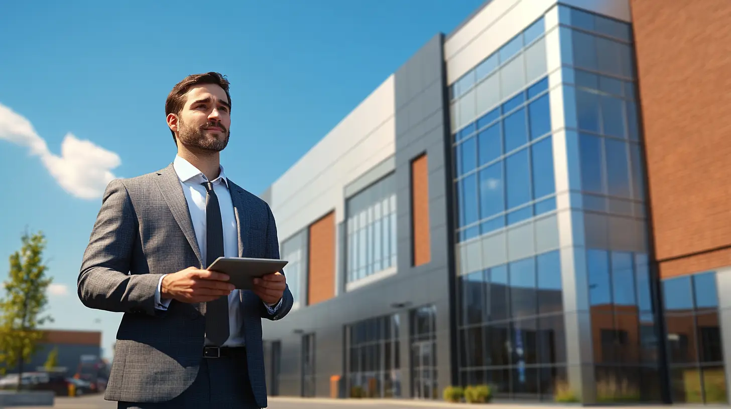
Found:
M 173 160 L 164 100 L 178 80 L 227 75 L 232 126 L 222 162 L 232 180 L 260 194 L 428 39 L 452 31 L 482 1 L 5 4 L 0 280 L 24 229 L 42 230 L 54 280 L 50 327 L 101 329 L 108 351 L 121 314 L 81 305 L 80 261 L 104 172 L 133 177 Z

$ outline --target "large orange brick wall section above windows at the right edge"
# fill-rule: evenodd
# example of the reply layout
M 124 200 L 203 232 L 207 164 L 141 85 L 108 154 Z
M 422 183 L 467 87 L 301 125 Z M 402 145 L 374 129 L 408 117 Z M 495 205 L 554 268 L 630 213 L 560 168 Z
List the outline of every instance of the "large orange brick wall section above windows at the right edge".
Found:
M 731 1 L 630 4 L 662 276 L 729 265 Z

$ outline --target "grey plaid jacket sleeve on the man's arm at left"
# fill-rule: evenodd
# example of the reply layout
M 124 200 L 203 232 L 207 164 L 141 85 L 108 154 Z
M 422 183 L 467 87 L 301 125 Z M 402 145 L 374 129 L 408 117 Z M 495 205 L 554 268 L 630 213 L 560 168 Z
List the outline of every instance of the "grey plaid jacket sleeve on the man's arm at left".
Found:
M 129 275 L 137 215 L 122 180 L 112 180 L 102 198 L 77 280 L 83 305 L 116 313 L 164 315 L 155 308 L 162 274 Z

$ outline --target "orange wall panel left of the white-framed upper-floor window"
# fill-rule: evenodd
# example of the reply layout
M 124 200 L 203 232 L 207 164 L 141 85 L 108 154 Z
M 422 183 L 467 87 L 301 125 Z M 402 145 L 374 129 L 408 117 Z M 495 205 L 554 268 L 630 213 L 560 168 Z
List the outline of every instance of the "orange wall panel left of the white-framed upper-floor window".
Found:
M 335 212 L 310 226 L 308 305 L 335 297 Z

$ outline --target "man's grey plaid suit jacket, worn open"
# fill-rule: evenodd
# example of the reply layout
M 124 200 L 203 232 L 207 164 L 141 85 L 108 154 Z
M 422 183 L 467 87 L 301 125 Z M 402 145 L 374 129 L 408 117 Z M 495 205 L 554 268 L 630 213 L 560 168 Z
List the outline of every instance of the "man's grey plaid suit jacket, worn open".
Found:
M 271 210 L 262 199 L 230 182 L 243 257 L 279 259 Z M 205 304 L 173 300 L 155 308 L 164 273 L 205 268 L 173 165 L 107 186 L 78 277 L 86 307 L 124 313 L 117 332 L 106 400 L 164 402 L 194 381 L 202 359 Z M 284 272 L 283 272 L 284 273 Z M 262 318 L 281 319 L 292 308 L 292 293 L 270 315 L 251 291 L 240 291 L 251 389 L 267 406 L 262 352 Z

